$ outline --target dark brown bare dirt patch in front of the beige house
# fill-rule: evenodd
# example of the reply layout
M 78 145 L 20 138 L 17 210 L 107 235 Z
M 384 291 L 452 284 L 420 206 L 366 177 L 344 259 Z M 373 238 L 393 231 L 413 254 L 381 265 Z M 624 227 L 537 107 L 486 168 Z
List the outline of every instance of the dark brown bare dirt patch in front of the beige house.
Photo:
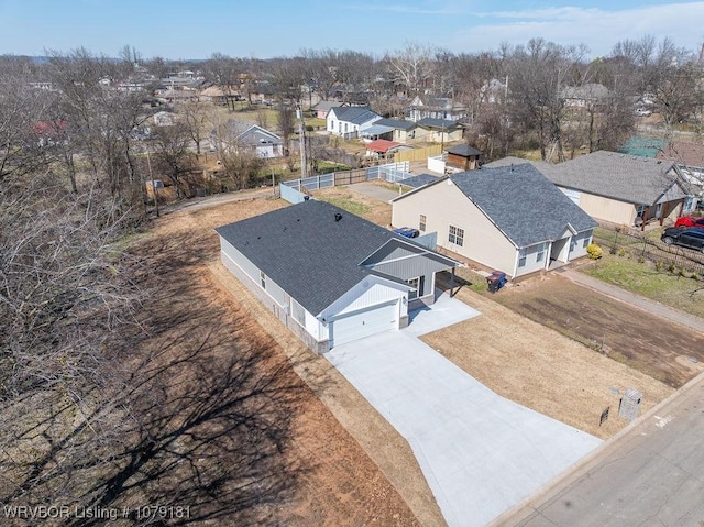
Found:
M 559 274 L 508 287 L 496 301 L 678 388 L 694 376 L 676 361 L 704 361 L 704 336 L 593 292 Z

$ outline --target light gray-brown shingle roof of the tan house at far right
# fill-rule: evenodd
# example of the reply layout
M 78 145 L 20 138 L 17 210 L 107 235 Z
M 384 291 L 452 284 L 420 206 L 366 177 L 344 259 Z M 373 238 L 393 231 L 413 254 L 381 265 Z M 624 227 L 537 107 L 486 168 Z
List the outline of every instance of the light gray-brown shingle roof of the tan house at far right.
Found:
M 636 205 L 652 205 L 676 180 L 671 162 L 600 151 L 538 168 L 552 183 Z M 684 197 L 682 193 L 681 197 Z

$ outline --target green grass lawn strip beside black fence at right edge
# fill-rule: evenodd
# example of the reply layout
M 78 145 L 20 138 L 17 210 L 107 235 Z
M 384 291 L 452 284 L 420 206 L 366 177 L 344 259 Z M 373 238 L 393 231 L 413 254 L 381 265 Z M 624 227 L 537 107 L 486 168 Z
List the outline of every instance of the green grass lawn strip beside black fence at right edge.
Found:
M 604 251 L 604 256 L 580 270 L 594 278 L 704 318 L 704 281 L 658 271 L 651 262 L 639 263 Z

